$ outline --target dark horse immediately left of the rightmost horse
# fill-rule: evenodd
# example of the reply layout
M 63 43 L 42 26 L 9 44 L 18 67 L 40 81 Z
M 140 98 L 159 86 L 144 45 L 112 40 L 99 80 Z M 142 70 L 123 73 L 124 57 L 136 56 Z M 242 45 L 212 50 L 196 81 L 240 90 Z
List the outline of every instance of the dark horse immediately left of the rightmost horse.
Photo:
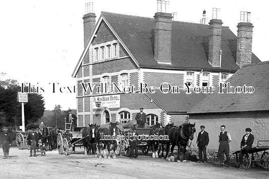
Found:
M 161 158 L 164 158 L 164 145 L 170 143 L 171 141 L 176 141 L 175 138 L 173 138 L 173 132 L 177 130 L 176 127 L 174 127 L 173 124 L 168 124 L 165 127 L 159 127 L 159 128 L 153 128 L 149 135 L 150 136 L 168 136 L 168 140 L 151 140 L 151 148 L 152 148 L 152 158 L 158 158 L 158 154 L 160 150 L 162 150 Z M 162 145 L 162 148 L 159 148 L 159 145 Z M 168 154 L 168 153 L 167 153 Z M 167 155 L 166 155 L 167 157 Z

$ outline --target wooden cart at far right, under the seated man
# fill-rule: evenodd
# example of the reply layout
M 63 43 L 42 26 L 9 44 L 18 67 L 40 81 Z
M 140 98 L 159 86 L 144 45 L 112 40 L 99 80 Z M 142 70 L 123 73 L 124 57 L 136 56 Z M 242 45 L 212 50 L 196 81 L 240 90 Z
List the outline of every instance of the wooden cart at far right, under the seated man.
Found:
M 269 168 L 269 153 L 266 152 L 266 150 L 269 150 L 269 140 L 258 141 L 257 146 L 251 148 L 251 150 L 249 150 L 248 153 L 243 156 L 243 167 L 249 168 L 251 164 L 252 166 L 254 166 L 254 164 L 256 163 L 263 168 Z M 240 150 L 233 153 L 236 155 L 237 165 L 239 165 L 239 153 Z

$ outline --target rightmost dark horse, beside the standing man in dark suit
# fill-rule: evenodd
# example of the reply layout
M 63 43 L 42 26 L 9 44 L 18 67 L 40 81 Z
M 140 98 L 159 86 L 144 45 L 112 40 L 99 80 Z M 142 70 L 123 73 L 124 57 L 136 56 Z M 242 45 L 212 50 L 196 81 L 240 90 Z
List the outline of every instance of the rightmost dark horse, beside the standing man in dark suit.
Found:
M 181 125 L 177 130 L 171 131 L 172 140 L 169 140 L 167 143 L 167 152 L 166 152 L 166 159 L 167 160 L 174 160 L 173 150 L 174 147 L 178 146 L 178 156 L 175 161 L 182 161 L 184 158 L 184 154 L 186 153 L 186 147 L 188 145 L 189 140 L 193 140 L 193 134 L 196 132 L 195 130 L 195 123 L 185 123 Z M 170 144 L 172 144 L 171 149 Z M 170 157 L 168 157 L 168 155 Z

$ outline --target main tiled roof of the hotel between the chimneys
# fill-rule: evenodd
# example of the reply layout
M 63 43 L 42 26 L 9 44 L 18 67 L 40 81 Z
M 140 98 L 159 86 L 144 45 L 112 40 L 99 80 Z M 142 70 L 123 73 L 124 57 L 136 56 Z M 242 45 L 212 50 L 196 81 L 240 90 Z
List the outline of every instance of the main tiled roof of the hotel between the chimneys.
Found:
M 236 36 L 229 27 L 222 28 L 222 68 L 208 62 L 209 25 L 172 22 L 172 65 L 158 64 L 154 60 L 154 19 L 102 12 L 139 65 L 172 68 L 238 70 L 236 61 Z M 260 62 L 252 53 L 252 63 Z

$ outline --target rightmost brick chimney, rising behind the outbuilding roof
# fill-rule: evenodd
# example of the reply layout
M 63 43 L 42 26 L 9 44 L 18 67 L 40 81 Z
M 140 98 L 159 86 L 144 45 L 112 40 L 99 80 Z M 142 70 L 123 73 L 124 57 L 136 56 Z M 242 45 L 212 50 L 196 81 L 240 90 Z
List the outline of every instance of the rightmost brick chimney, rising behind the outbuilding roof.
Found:
M 237 28 L 236 64 L 241 68 L 251 64 L 253 26 L 250 23 L 250 12 L 240 12 Z

